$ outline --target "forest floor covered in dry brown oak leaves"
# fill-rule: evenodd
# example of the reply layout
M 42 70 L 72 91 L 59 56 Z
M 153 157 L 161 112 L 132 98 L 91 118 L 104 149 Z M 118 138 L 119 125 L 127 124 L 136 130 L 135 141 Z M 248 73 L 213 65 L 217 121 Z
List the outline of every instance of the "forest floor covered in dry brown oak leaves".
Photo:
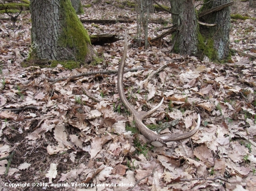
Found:
M 7 160 L 0 161 L 0 191 L 124 191 L 133 185 L 133 191 L 255 191 L 256 12 L 240 1 L 231 9 L 232 14 L 254 19 L 232 19 L 230 48 L 254 57 L 234 53 L 227 63 L 168 53 L 170 36 L 148 50 L 138 48 L 136 23 L 84 24 L 89 34 L 112 33 L 123 39 L 128 31 L 126 68 L 148 69 L 124 74 L 129 102 L 143 111 L 164 97 L 145 124 L 179 119 L 161 133 L 182 133 L 201 115 L 200 128 L 191 139 L 160 147 L 134 134 L 133 118 L 119 100 L 116 74 L 52 83 L 83 72 L 117 70 L 123 40 L 94 46 L 103 58 L 96 66 L 22 68 L 30 46 L 30 13 L 20 14 L 19 28 L 1 20 L 0 158 L 16 153 L 8 176 Z M 84 10 L 81 19 L 136 18 L 132 8 L 107 1 Z M 171 20 L 165 12 L 152 17 Z M 149 24 L 148 36 L 161 34 L 157 30 L 162 27 Z M 147 76 L 164 64 L 168 67 L 146 83 Z M 34 108 L 23 109 L 28 106 Z M 18 183 L 30 185 L 11 187 Z

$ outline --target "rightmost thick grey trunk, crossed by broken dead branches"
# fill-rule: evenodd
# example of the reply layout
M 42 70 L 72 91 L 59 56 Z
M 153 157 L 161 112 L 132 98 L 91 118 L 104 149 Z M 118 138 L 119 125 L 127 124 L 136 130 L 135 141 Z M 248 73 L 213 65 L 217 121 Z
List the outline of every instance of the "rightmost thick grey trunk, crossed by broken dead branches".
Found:
M 204 0 L 207 3 L 209 0 Z M 229 3 L 230 0 L 210 1 L 203 5 L 200 12 L 209 10 L 210 8 Z M 229 32 L 230 32 L 230 7 L 226 7 L 220 11 L 210 13 L 200 18 L 200 21 L 208 24 L 216 24 L 216 26 L 200 25 L 200 32 L 207 41 L 213 41 L 213 48 L 216 57 L 212 59 L 222 60 L 229 56 Z

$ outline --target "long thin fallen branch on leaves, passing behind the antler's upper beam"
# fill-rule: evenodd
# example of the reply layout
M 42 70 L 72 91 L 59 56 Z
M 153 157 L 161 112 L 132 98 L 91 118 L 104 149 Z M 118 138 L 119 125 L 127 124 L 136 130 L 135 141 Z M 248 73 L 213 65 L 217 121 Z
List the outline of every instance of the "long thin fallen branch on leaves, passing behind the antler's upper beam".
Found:
M 134 72 L 134 71 L 138 71 L 138 70 L 146 70 L 146 68 L 134 68 L 134 69 L 128 69 L 128 70 L 124 70 L 125 72 Z M 61 77 L 61 78 L 57 78 L 57 79 L 48 79 L 49 82 L 52 82 L 51 84 L 54 84 L 58 81 L 62 81 L 62 80 L 67 80 L 67 79 L 74 79 L 74 78 L 78 78 L 78 77 L 82 77 L 82 76 L 90 76 L 90 75 L 95 75 L 95 74 L 117 74 L 118 70 L 104 70 L 104 71 L 96 71 L 96 72 L 86 72 L 86 73 L 82 73 L 76 76 L 67 76 L 67 77 Z

